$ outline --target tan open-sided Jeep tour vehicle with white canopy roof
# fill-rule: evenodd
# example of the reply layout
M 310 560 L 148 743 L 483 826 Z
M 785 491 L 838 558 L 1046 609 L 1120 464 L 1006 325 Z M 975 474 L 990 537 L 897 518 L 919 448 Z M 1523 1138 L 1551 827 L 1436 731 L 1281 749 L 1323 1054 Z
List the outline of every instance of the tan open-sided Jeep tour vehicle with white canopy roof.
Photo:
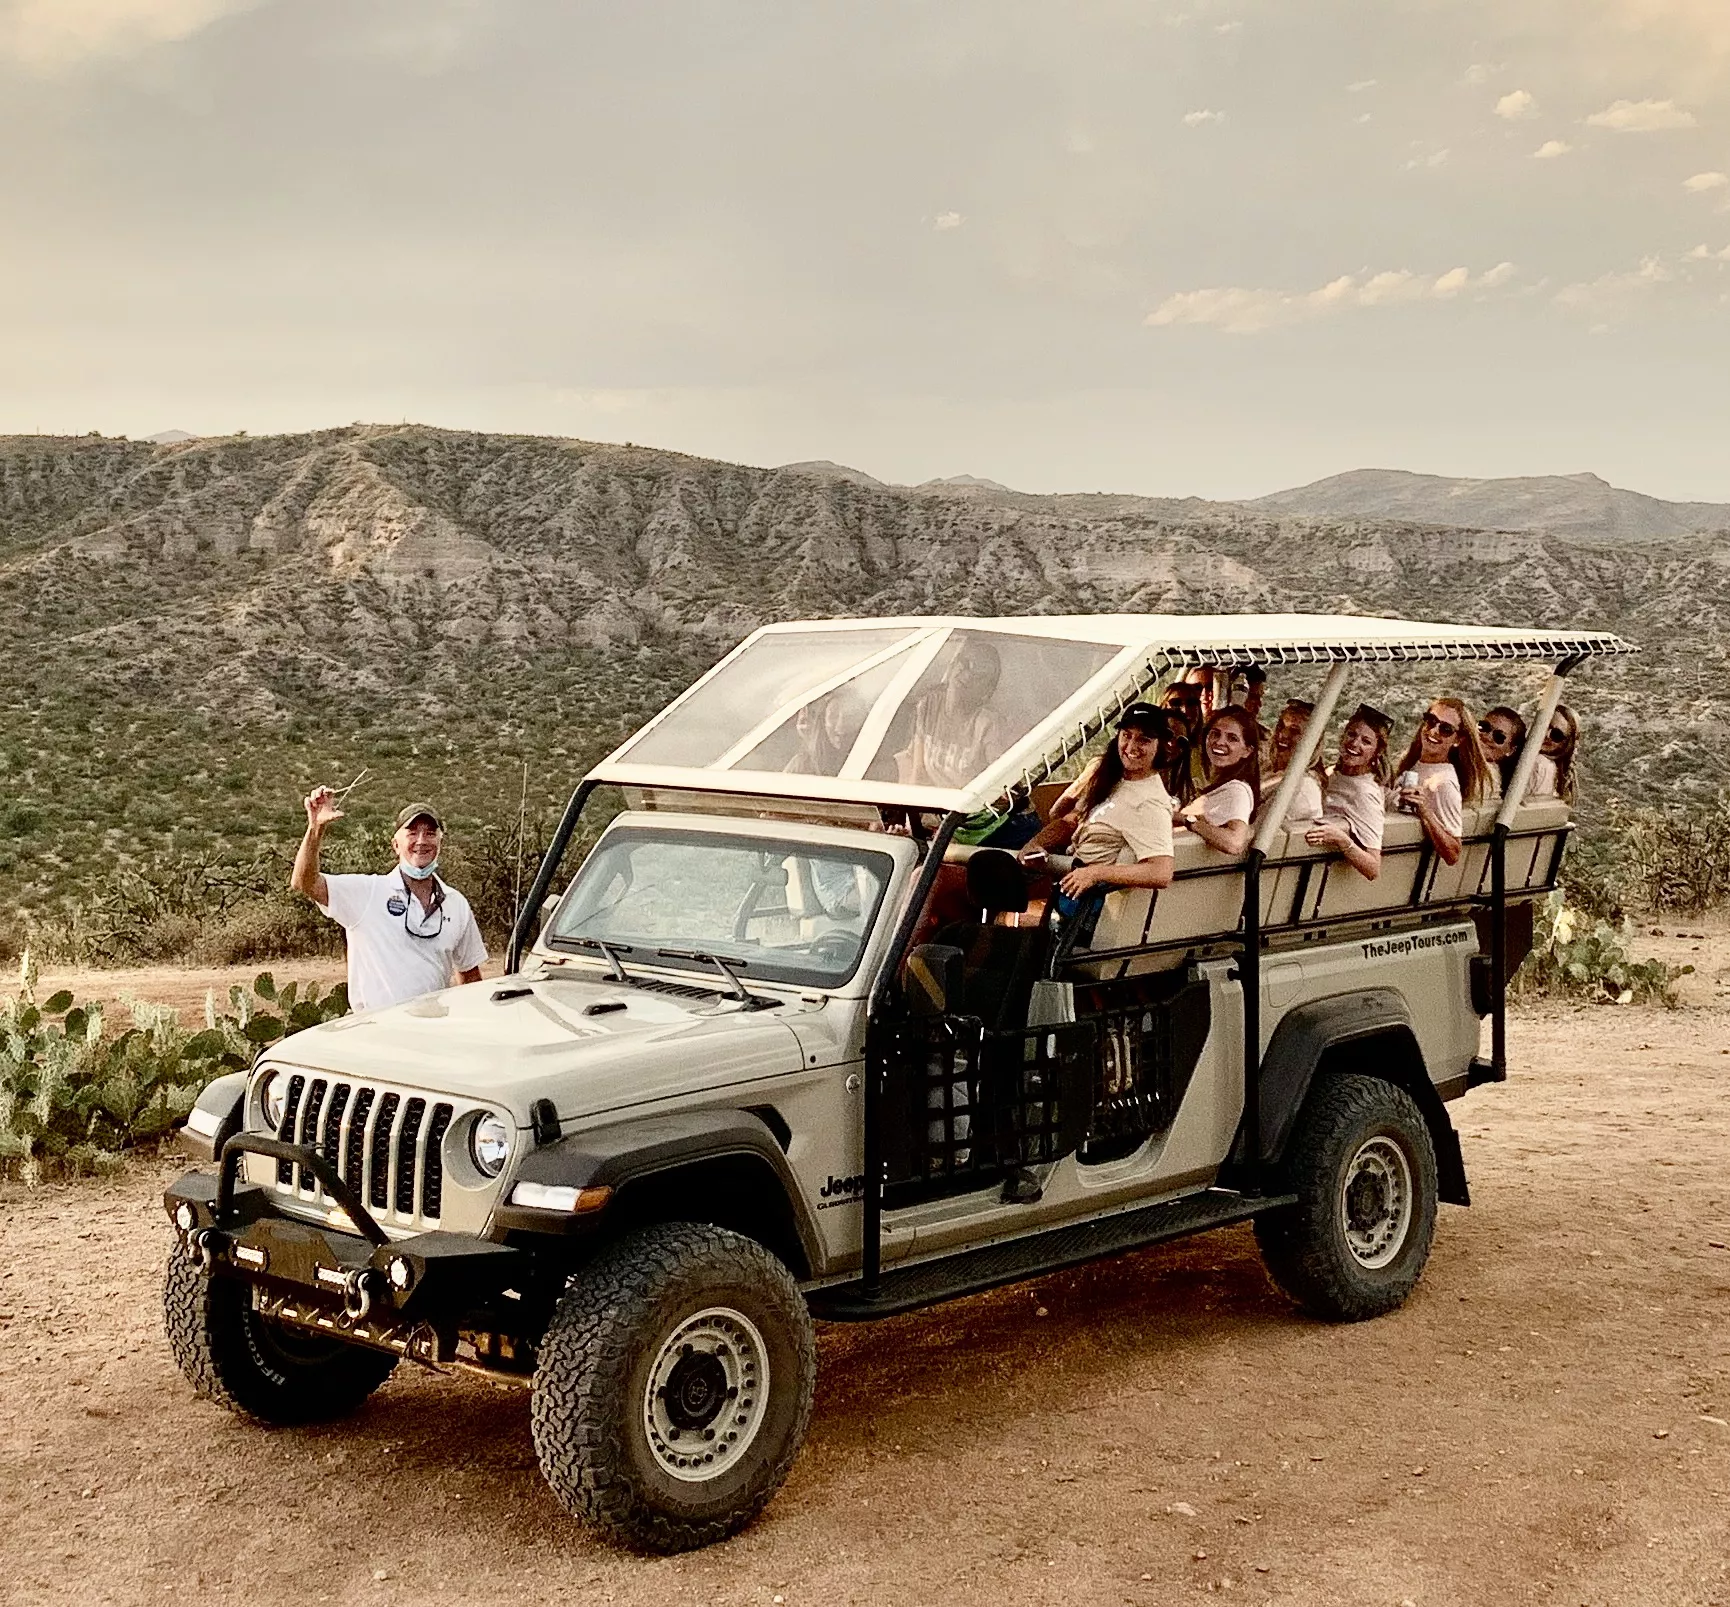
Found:
M 1505 1076 L 1569 811 L 1524 801 L 1529 742 L 1453 865 L 1406 815 L 1374 880 L 1277 822 L 1355 666 L 1548 663 L 1536 732 L 1630 650 L 1306 616 L 759 630 L 576 789 L 505 977 L 206 1090 L 183 1143 L 215 1171 L 166 1192 L 175 1354 L 263 1424 L 353 1412 L 405 1356 L 517 1379 L 561 1501 L 680 1550 L 787 1476 L 813 1318 L 1239 1221 L 1315 1316 L 1389 1311 L 1467 1202 L 1446 1107 Z M 1080 922 L 983 842 L 1130 702 L 1251 663 L 1320 685 L 1246 855 L 1180 832 L 1169 887 Z M 552 898 L 592 796 L 623 808 Z

